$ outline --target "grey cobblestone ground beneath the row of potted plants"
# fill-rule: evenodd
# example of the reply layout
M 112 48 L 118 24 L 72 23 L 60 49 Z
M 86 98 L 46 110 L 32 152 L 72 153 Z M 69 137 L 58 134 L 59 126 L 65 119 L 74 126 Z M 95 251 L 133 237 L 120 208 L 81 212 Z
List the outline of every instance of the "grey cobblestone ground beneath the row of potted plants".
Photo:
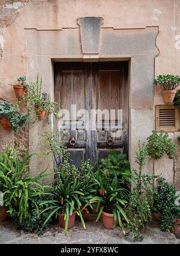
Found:
M 52 225 L 44 231 L 43 236 L 16 230 L 13 222 L 0 224 L 0 243 L 134 243 L 133 236 L 124 237 L 120 228 L 107 230 L 101 222 L 86 222 L 86 230 L 83 230 L 80 222 L 76 222 L 73 228 L 64 235 L 62 228 L 58 231 L 57 225 Z M 157 222 L 152 222 L 146 228 L 142 242 L 135 243 L 180 243 L 172 233 L 163 233 L 158 228 Z

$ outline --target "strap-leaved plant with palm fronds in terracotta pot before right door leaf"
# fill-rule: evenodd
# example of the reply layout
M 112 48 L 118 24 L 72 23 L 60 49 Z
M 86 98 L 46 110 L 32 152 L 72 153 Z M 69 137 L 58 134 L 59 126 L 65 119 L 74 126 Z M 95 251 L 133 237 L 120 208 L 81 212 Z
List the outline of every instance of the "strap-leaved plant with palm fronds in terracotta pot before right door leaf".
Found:
M 101 198 L 97 204 L 97 221 L 103 216 L 103 225 L 106 228 L 115 228 L 119 223 L 124 231 L 123 221 L 128 222 L 124 212 L 131 181 L 130 164 L 125 154 L 113 150 L 109 156 L 101 159 L 100 167 L 96 172 L 95 184 L 97 196 Z

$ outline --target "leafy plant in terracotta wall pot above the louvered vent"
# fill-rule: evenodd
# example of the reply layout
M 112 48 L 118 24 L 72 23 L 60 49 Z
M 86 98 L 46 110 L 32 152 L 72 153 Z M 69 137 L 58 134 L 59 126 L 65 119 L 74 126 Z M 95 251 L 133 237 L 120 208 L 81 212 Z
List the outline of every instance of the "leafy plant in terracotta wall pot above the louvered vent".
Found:
M 180 85 L 180 76 L 174 75 L 159 75 L 154 79 L 154 84 L 163 86 L 164 103 L 173 103 L 176 94 L 176 87 Z

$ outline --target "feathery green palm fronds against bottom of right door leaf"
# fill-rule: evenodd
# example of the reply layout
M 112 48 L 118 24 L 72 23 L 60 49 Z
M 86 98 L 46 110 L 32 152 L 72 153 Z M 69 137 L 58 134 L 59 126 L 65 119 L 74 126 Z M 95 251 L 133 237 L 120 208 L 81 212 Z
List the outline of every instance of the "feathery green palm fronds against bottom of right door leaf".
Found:
M 131 182 L 130 163 L 126 154 L 120 154 L 116 150 L 112 150 L 107 157 L 101 159 L 100 169 L 103 172 L 117 175 L 122 181 Z

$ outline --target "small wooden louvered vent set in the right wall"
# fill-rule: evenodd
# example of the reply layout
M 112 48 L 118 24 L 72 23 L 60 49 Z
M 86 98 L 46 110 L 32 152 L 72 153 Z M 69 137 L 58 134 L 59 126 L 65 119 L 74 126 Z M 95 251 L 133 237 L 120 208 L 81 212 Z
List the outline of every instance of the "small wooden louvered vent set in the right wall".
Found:
M 177 132 L 179 130 L 179 109 L 172 105 L 155 106 L 155 129 Z

